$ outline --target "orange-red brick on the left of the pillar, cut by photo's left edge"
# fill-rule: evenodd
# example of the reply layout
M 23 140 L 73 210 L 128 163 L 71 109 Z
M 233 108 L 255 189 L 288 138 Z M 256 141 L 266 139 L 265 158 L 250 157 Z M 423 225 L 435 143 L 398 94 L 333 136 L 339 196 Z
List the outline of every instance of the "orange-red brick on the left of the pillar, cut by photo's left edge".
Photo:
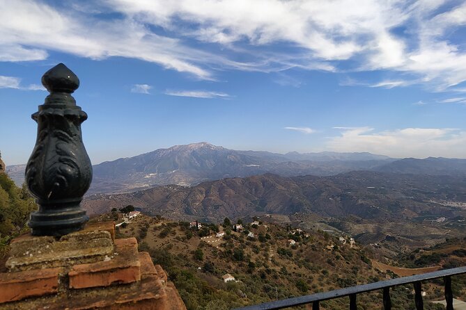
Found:
M 48 268 L 1 273 L 0 303 L 56 293 L 61 270 L 61 268 Z

